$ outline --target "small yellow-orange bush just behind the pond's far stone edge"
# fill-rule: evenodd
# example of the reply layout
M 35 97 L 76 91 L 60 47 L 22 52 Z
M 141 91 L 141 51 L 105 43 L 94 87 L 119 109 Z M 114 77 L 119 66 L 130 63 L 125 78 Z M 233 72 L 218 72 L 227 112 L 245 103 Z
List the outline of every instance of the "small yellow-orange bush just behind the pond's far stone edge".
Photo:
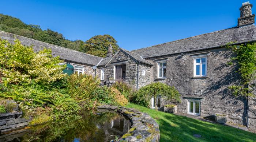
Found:
M 111 87 L 109 95 L 114 99 L 114 102 L 118 106 L 126 106 L 128 104 L 128 100 L 122 95 L 116 88 Z

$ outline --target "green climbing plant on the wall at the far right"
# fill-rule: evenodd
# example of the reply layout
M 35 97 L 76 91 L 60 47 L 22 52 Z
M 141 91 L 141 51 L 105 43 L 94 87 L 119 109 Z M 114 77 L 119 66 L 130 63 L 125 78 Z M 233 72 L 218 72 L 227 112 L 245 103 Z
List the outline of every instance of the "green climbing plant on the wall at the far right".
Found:
M 241 75 L 240 85 L 229 86 L 235 96 L 243 96 L 246 98 L 255 97 L 252 93 L 252 87 L 255 84 L 250 84 L 255 79 L 256 71 L 256 43 L 241 44 L 240 46 L 228 44 L 227 48 L 236 54 L 235 57 L 231 58 L 229 64 L 233 64 L 232 61 L 238 63 L 238 73 Z

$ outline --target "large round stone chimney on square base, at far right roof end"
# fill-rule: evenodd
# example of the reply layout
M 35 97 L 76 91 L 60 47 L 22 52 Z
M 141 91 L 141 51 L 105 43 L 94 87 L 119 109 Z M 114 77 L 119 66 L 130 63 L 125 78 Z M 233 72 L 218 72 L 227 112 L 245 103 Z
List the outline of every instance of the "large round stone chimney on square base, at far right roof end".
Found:
M 254 21 L 255 14 L 252 15 L 252 4 L 249 1 L 242 3 L 240 7 L 240 18 L 238 18 L 238 27 L 242 25 L 248 25 L 255 23 Z

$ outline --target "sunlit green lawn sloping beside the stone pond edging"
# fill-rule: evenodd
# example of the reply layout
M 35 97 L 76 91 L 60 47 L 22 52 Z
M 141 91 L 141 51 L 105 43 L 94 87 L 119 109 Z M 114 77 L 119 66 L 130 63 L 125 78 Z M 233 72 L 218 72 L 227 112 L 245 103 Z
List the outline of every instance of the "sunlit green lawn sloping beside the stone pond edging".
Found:
M 256 142 L 256 134 L 248 131 L 155 111 L 137 104 L 129 103 L 126 107 L 147 113 L 157 121 L 160 142 Z M 196 138 L 193 134 L 202 137 Z

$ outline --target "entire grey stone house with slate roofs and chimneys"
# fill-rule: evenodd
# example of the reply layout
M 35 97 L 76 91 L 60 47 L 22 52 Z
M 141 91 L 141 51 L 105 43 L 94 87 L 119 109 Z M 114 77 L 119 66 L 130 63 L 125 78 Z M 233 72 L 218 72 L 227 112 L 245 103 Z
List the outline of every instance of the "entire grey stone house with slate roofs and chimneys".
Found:
M 239 45 L 256 41 L 255 14 L 252 15 L 251 8 L 249 2 L 242 4 L 236 27 L 133 51 L 120 48 L 115 54 L 110 45 L 105 58 L 3 31 L 0 38 L 11 42 L 19 39 L 24 45 L 34 45 L 35 51 L 51 48 L 53 55 L 72 64 L 75 72 L 97 75 L 102 84 L 121 80 L 137 89 L 151 82 L 174 86 L 182 95 L 178 113 L 201 117 L 222 113 L 228 116 L 228 122 L 246 125 L 249 107 L 248 125 L 256 126 L 256 102 L 247 104 L 246 99 L 235 98 L 228 89 L 241 78 L 236 66 L 227 66 L 234 54 L 225 47 L 230 42 Z M 168 103 L 161 96 L 157 98 L 160 110 Z

